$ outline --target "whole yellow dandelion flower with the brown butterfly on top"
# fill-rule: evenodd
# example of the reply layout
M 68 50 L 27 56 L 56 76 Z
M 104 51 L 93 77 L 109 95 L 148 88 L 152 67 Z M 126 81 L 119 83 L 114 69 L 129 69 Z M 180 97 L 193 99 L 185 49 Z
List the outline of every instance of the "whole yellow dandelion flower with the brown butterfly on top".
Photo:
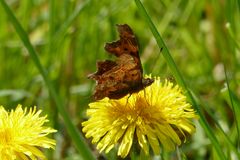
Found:
M 160 145 L 174 150 L 182 137 L 195 132 L 191 123 L 197 118 L 178 85 L 155 78 L 144 90 L 121 99 L 104 98 L 89 104 L 89 120 L 82 123 L 86 137 L 92 137 L 100 152 L 109 152 L 119 144 L 118 155 L 126 157 L 133 140 L 146 154 L 151 146 L 160 154 Z

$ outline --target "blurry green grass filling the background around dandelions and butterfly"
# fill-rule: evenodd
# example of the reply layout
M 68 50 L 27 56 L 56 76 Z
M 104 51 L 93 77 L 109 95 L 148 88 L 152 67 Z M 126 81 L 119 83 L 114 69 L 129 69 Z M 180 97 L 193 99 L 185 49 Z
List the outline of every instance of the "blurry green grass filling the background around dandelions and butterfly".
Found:
M 200 116 L 196 136 L 162 157 L 240 159 L 239 1 L 0 2 L 0 105 L 49 115 L 60 137 L 49 159 L 99 156 L 75 126 L 91 102 L 86 75 L 109 58 L 104 43 L 121 23 L 138 36 L 144 73 L 174 77 Z M 105 156 L 116 159 L 115 151 Z

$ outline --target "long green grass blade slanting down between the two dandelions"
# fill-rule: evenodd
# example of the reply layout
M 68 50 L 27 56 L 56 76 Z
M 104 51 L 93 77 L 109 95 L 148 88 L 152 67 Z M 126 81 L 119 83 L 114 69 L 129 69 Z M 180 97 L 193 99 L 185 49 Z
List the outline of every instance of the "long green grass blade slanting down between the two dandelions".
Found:
M 30 54 L 32 60 L 34 61 L 34 64 L 36 65 L 40 74 L 43 76 L 43 79 L 49 89 L 50 95 L 52 96 L 53 100 L 55 101 L 58 111 L 61 114 L 62 118 L 64 119 L 68 133 L 71 136 L 71 138 L 73 139 L 73 142 L 75 143 L 76 148 L 78 149 L 79 153 L 81 154 L 81 156 L 84 159 L 95 159 L 93 154 L 91 153 L 89 147 L 84 142 L 84 138 L 83 138 L 82 134 L 80 134 L 80 132 L 77 130 L 77 128 L 73 125 L 69 115 L 67 114 L 67 111 L 64 108 L 63 103 L 61 102 L 61 99 L 59 98 L 58 94 L 56 93 L 56 90 L 54 89 L 50 79 L 48 78 L 48 75 L 47 75 L 44 67 L 41 64 L 36 51 L 34 50 L 32 44 L 29 41 L 27 33 L 24 31 L 24 29 L 22 28 L 19 21 L 14 16 L 13 12 L 11 11 L 11 9 L 7 5 L 7 3 L 4 0 L 0 0 L 0 2 L 1 2 L 6 14 L 8 15 L 10 22 L 14 26 L 17 34 L 19 35 L 24 46 L 28 50 L 28 53 Z

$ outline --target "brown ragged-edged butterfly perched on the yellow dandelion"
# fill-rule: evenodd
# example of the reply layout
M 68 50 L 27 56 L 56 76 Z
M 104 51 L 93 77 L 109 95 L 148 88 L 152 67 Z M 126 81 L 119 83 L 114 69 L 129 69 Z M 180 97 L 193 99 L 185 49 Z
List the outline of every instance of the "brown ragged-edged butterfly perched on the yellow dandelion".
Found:
M 143 77 L 137 39 L 127 24 L 117 25 L 120 39 L 106 43 L 105 50 L 116 60 L 97 62 L 97 71 L 88 78 L 96 80 L 94 100 L 104 97 L 120 99 L 151 85 L 154 80 Z

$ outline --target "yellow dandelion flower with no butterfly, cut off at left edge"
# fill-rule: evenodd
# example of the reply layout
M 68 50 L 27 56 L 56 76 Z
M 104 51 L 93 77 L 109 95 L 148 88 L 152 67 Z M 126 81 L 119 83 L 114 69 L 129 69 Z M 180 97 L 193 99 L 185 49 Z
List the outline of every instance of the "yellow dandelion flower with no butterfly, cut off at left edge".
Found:
M 40 117 L 41 110 L 36 107 L 22 109 L 18 105 L 15 110 L 7 112 L 0 106 L 0 159 L 28 160 L 46 159 L 40 147 L 54 148 L 55 140 L 47 138 L 56 130 L 43 126 L 47 116 Z

